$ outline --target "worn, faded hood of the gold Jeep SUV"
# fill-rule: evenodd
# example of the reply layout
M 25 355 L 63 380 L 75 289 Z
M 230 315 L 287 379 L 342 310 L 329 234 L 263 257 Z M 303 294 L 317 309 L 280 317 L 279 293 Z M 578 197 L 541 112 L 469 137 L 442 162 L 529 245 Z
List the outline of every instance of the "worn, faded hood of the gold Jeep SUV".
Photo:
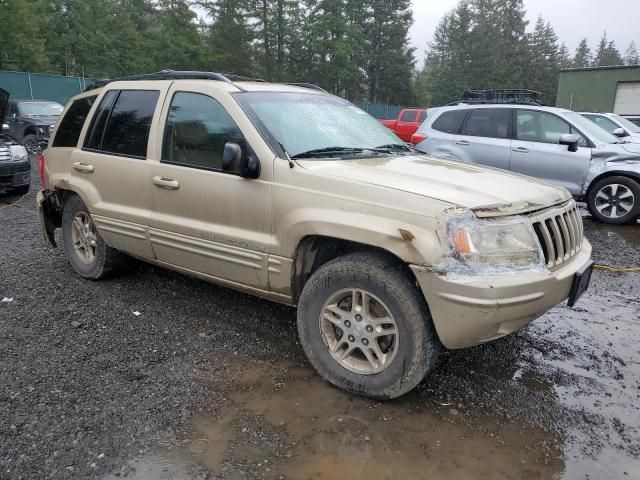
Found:
M 571 198 L 535 178 L 426 155 L 354 160 L 304 160 L 303 168 L 435 198 L 473 210 L 478 216 L 526 213 Z

